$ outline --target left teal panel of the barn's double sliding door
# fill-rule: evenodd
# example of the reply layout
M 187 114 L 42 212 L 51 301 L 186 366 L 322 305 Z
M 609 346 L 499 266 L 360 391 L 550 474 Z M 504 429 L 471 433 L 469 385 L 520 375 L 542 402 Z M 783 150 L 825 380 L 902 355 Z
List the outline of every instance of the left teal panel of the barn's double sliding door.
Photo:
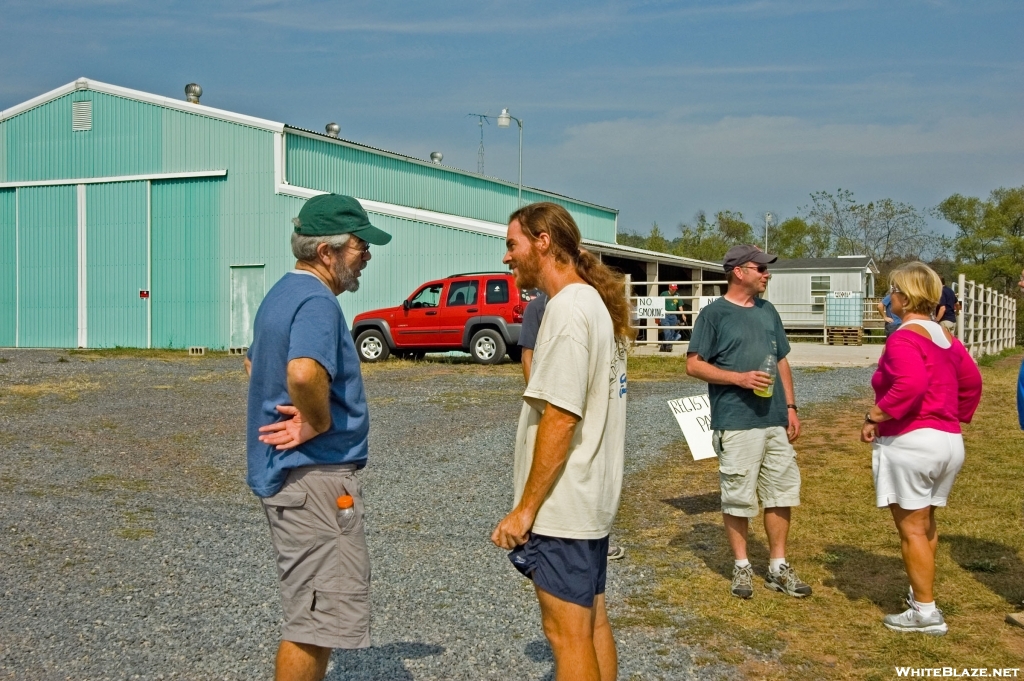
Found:
M 76 188 L 17 190 L 18 345 L 78 345 L 78 219 Z

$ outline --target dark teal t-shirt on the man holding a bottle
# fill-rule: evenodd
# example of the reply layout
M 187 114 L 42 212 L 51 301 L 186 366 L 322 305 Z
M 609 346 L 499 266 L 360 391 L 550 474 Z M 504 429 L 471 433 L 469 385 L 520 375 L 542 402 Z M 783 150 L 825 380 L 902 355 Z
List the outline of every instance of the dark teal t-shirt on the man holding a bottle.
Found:
M 697 315 L 687 353 L 730 372 L 757 371 L 772 352 L 781 359 L 790 353 L 790 341 L 782 320 L 767 300 L 754 299 L 742 307 L 724 297 Z M 785 390 L 776 379 L 771 397 L 759 397 L 753 390 L 735 385 L 708 385 L 711 398 L 711 427 L 715 430 L 751 430 L 787 426 L 790 415 Z

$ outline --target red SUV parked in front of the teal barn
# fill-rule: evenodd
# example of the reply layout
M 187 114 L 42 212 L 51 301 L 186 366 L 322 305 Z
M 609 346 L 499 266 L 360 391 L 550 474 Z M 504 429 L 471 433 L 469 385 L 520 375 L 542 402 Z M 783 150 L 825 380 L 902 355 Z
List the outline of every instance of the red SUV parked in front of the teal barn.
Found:
M 525 308 L 507 271 L 453 274 L 427 282 L 401 305 L 357 314 L 352 336 L 362 361 L 449 350 L 469 352 L 483 365 L 497 364 L 506 353 L 518 361 Z

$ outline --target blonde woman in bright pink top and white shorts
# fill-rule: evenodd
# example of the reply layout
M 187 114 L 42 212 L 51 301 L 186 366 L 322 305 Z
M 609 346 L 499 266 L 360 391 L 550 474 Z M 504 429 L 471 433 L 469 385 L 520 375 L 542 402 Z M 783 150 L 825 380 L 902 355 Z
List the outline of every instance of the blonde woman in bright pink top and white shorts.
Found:
M 887 614 L 886 627 L 941 636 L 947 627 L 935 607 L 935 508 L 945 506 L 964 465 L 961 423 L 981 400 L 981 374 L 958 340 L 932 321 L 942 293 L 939 275 L 923 262 L 894 269 L 892 306 L 902 326 L 886 340 L 871 377 L 874 406 L 860 439 L 871 442 L 879 508 L 888 506 L 899 530 L 910 579 L 909 608 Z

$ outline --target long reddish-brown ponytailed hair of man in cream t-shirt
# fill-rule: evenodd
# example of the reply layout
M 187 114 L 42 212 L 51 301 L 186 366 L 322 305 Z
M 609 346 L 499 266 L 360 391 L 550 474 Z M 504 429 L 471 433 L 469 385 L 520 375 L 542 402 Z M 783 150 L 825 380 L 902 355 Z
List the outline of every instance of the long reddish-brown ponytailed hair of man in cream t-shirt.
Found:
M 597 290 L 611 315 L 616 342 L 628 343 L 636 337 L 636 330 L 630 326 L 626 278 L 598 260 L 593 253 L 580 248 L 583 237 L 567 210 L 544 201 L 523 206 L 509 216 L 510 223 L 512 220 L 519 222 L 519 227 L 530 241 L 537 241 L 543 233 L 548 235 L 555 260 L 563 264 L 572 263 L 580 279 Z

